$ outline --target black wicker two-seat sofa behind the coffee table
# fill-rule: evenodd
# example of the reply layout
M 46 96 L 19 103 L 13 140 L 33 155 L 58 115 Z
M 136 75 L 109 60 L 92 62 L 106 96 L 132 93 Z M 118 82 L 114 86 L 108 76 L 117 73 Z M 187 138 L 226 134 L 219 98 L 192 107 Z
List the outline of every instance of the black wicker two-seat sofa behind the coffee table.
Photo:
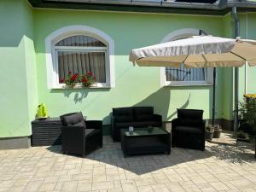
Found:
M 120 129 L 133 127 L 162 126 L 162 116 L 154 114 L 153 107 L 113 108 L 111 135 L 114 142 L 120 141 Z

